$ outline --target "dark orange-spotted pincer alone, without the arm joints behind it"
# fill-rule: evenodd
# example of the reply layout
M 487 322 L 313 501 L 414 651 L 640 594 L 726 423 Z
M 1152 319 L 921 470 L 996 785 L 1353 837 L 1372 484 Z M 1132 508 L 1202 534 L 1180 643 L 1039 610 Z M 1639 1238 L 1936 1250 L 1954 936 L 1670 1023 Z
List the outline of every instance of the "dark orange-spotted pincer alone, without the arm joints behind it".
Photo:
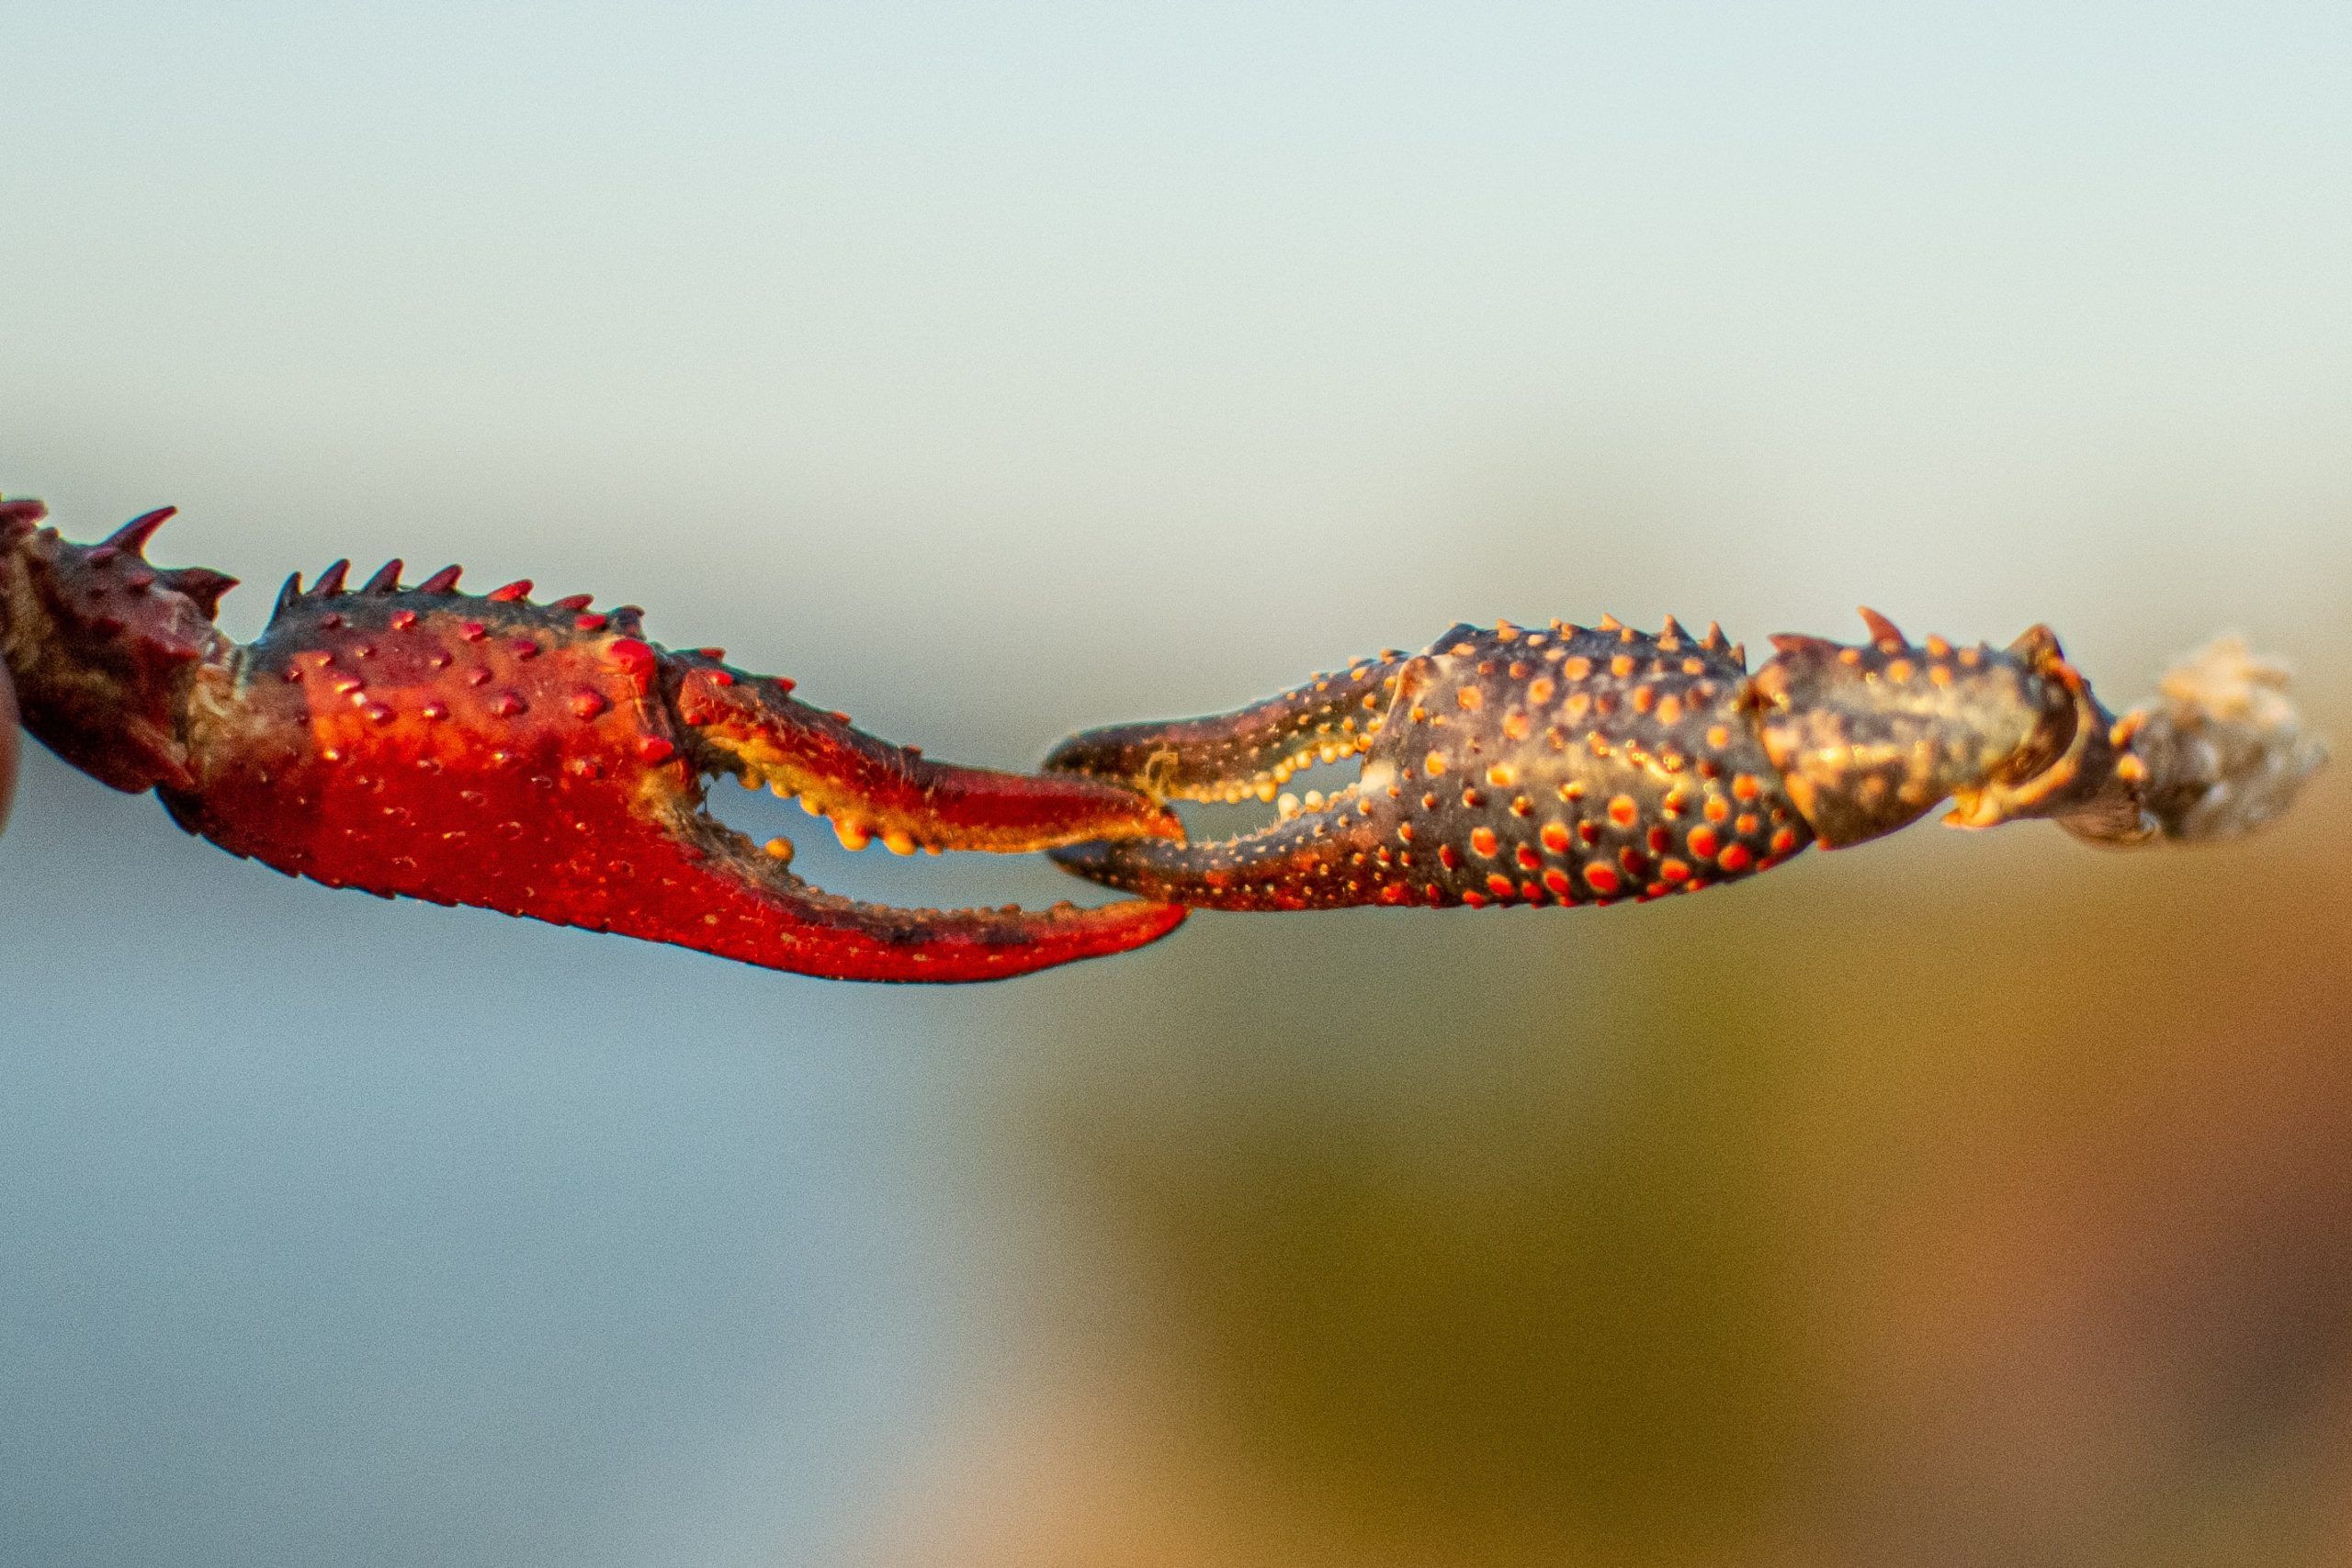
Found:
M 1047 769 L 1171 799 L 1275 799 L 1223 844 L 1129 839 L 1054 858 L 1108 886 L 1218 910 L 1613 903 L 1729 882 L 1811 842 L 1740 717 L 1719 632 L 1456 625 L 1211 719 L 1063 741 Z M 1315 762 L 1362 773 L 1303 802 Z

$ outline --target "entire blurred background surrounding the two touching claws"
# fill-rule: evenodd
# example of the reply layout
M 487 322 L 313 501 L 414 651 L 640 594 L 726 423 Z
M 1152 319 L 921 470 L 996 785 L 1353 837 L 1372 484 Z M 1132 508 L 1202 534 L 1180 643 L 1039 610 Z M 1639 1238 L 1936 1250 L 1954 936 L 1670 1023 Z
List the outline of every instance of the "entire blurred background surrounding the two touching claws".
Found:
M 1870 602 L 2114 705 L 2239 628 L 2352 741 L 2338 5 L 99 0 L 0 68 L 0 489 L 179 503 L 240 637 L 463 559 L 1021 766 Z M 2343 764 L 938 992 L 26 773 L 0 1561 L 2352 1561 Z

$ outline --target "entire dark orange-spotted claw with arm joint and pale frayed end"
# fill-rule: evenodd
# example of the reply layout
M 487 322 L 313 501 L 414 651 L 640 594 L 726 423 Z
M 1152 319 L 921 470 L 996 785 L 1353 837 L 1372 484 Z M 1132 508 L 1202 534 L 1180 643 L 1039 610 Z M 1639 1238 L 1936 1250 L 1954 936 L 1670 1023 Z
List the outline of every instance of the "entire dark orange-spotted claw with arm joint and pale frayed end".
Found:
M 2176 675 L 2169 705 L 2117 719 L 2049 628 L 2009 649 L 1915 646 L 1863 616 L 1867 642 L 1773 637 L 1755 672 L 1717 628 L 1672 618 L 1656 635 L 1613 618 L 1456 625 L 1232 715 L 1087 731 L 1047 769 L 1160 799 L 1277 799 L 1345 757 L 1362 773 L 1329 799 L 1279 795 L 1282 820 L 1221 844 L 1054 858 L 1218 910 L 1616 903 L 1860 844 L 1945 799 L 1962 827 L 2039 816 L 2103 844 L 2227 837 L 2284 811 L 2324 759 L 2277 696 L 2284 677 L 2234 644 L 2204 656 L 2204 684 Z

